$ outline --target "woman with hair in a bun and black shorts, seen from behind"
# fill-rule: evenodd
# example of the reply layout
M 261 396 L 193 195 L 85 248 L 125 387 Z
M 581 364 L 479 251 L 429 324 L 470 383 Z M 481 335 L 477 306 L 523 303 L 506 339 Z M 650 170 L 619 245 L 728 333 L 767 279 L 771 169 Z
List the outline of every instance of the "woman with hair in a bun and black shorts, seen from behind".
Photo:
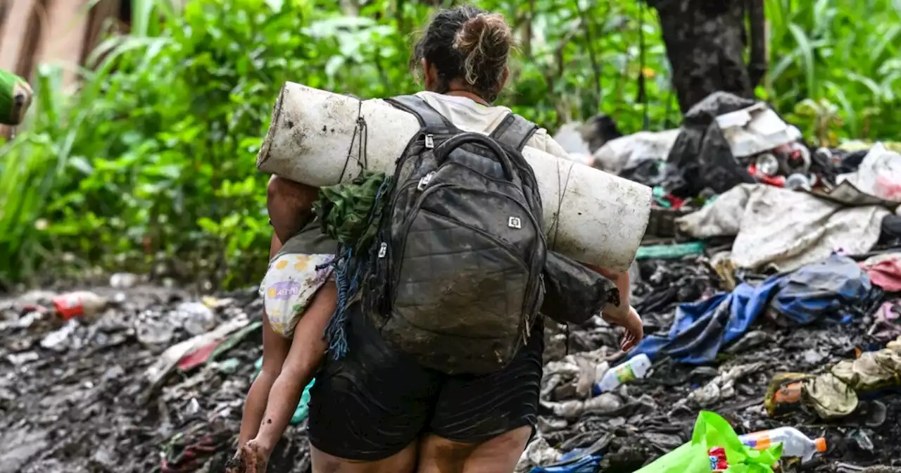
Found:
M 462 132 L 493 132 L 510 114 L 508 108 L 491 103 L 509 77 L 512 43 L 513 33 L 500 14 L 471 6 L 441 10 L 411 59 L 411 67 L 421 69 L 424 79 L 425 91 L 416 96 Z M 525 145 L 567 157 L 543 129 Z M 296 205 L 312 204 L 310 197 L 297 198 L 305 191 L 296 183 L 276 177 L 269 188 L 269 206 L 280 205 L 286 219 L 309 208 Z M 278 232 L 275 220 L 273 215 Z M 620 304 L 605 305 L 602 315 L 625 329 L 622 348 L 630 350 L 643 332 L 641 319 L 629 305 L 628 275 L 593 269 L 612 279 L 620 291 Z M 329 356 L 316 374 L 308 423 L 314 473 L 512 472 L 538 419 L 541 318 L 526 331 L 527 341 L 505 368 L 487 375 L 447 375 L 391 348 L 361 311 L 359 304 L 348 310 L 346 354 L 340 359 Z M 305 315 L 298 323 L 288 361 L 296 356 L 308 367 L 310 360 L 322 356 L 323 319 Z M 311 342 L 298 343 L 300 338 Z M 311 375 L 297 373 L 298 387 Z M 294 407 L 288 401 L 278 415 L 290 417 Z M 275 441 L 278 436 L 260 430 L 251 449 L 258 464 L 265 465 Z M 245 449 L 245 457 L 251 451 Z M 254 461 L 245 459 L 245 465 L 250 463 Z

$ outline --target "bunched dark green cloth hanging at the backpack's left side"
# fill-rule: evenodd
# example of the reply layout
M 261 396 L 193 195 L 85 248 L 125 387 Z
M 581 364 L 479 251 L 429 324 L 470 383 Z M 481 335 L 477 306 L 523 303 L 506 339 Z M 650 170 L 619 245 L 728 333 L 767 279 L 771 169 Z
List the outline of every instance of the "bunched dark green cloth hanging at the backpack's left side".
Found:
M 319 189 L 319 200 L 313 208 L 323 233 L 353 248 L 354 254 L 367 248 L 378 231 L 387 201 L 387 193 L 378 194 L 387 180 L 384 172 L 363 171 L 348 183 Z

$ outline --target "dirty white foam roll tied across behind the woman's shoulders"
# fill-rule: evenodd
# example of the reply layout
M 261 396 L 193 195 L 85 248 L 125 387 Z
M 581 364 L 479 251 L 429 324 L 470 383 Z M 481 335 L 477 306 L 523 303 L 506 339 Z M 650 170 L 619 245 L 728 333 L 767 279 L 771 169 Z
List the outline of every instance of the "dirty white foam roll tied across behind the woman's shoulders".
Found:
M 367 126 L 366 165 L 392 173 L 419 132 L 414 115 L 382 100 L 360 102 L 293 82 L 278 95 L 257 168 L 317 187 L 356 177 L 359 133 L 350 148 L 358 116 Z M 651 189 L 531 147 L 523 157 L 538 179 L 551 248 L 578 261 L 627 271 L 648 226 Z

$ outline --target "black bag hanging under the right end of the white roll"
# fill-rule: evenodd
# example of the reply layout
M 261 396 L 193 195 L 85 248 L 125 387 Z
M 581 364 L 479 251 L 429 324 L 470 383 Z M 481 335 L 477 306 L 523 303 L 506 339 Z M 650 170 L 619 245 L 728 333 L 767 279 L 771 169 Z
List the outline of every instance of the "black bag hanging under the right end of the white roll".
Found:
M 613 281 L 556 251 L 544 263 L 542 314 L 558 323 L 586 323 L 605 304 L 619 305 Z

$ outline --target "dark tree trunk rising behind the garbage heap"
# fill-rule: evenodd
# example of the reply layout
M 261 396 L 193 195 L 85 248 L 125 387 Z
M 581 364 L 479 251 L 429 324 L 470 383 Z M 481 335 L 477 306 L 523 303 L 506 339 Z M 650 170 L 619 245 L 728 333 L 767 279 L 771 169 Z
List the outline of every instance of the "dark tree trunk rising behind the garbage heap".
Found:
M 672 68 L 672 86 L 685 114 L 716 91 L 746 98 L 754 97 L 754 82 L 760 80 L 760 49 L 755 50 L 755 81 L 744 62 L 747 45 L 745 2 L 760 4 L 751 9 L 762 12 L 762 0 L 647 0 L 657 9 L 667 57 Z M 750 6 L 750 5 L 748 5 Z M 756 15 L 753 15 L 756 16 Z M 760 14 L 762 16 L 762 14 Z M 759 45 L 760 34 L 752 41 Z M 765 66 L 764 66 L 765 69 Z

